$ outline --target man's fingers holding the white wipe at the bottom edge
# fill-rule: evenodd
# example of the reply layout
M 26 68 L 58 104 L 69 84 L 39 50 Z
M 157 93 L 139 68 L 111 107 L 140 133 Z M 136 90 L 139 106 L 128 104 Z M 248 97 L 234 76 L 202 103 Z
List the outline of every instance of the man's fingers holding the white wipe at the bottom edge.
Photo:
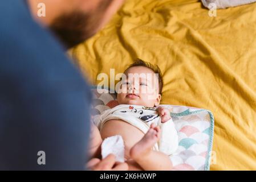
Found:
M 115 155 L 109 154 L 105 159 L 91 159 L 87 163 L 87 168 L 92 171 L 127 171 L 127 163 L 115 162 Z

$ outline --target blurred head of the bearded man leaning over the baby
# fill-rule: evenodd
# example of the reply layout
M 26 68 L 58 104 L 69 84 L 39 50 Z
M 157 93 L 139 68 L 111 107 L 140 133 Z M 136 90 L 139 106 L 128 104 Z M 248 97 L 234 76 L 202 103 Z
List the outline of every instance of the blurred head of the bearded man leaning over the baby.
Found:
M 124 0 L 27 0 L 31 13 L 50 27 L 68 48 L 90 38 L 103 27 Z M 38 17 L 38 4 L 46 5 L 46 16 Z

